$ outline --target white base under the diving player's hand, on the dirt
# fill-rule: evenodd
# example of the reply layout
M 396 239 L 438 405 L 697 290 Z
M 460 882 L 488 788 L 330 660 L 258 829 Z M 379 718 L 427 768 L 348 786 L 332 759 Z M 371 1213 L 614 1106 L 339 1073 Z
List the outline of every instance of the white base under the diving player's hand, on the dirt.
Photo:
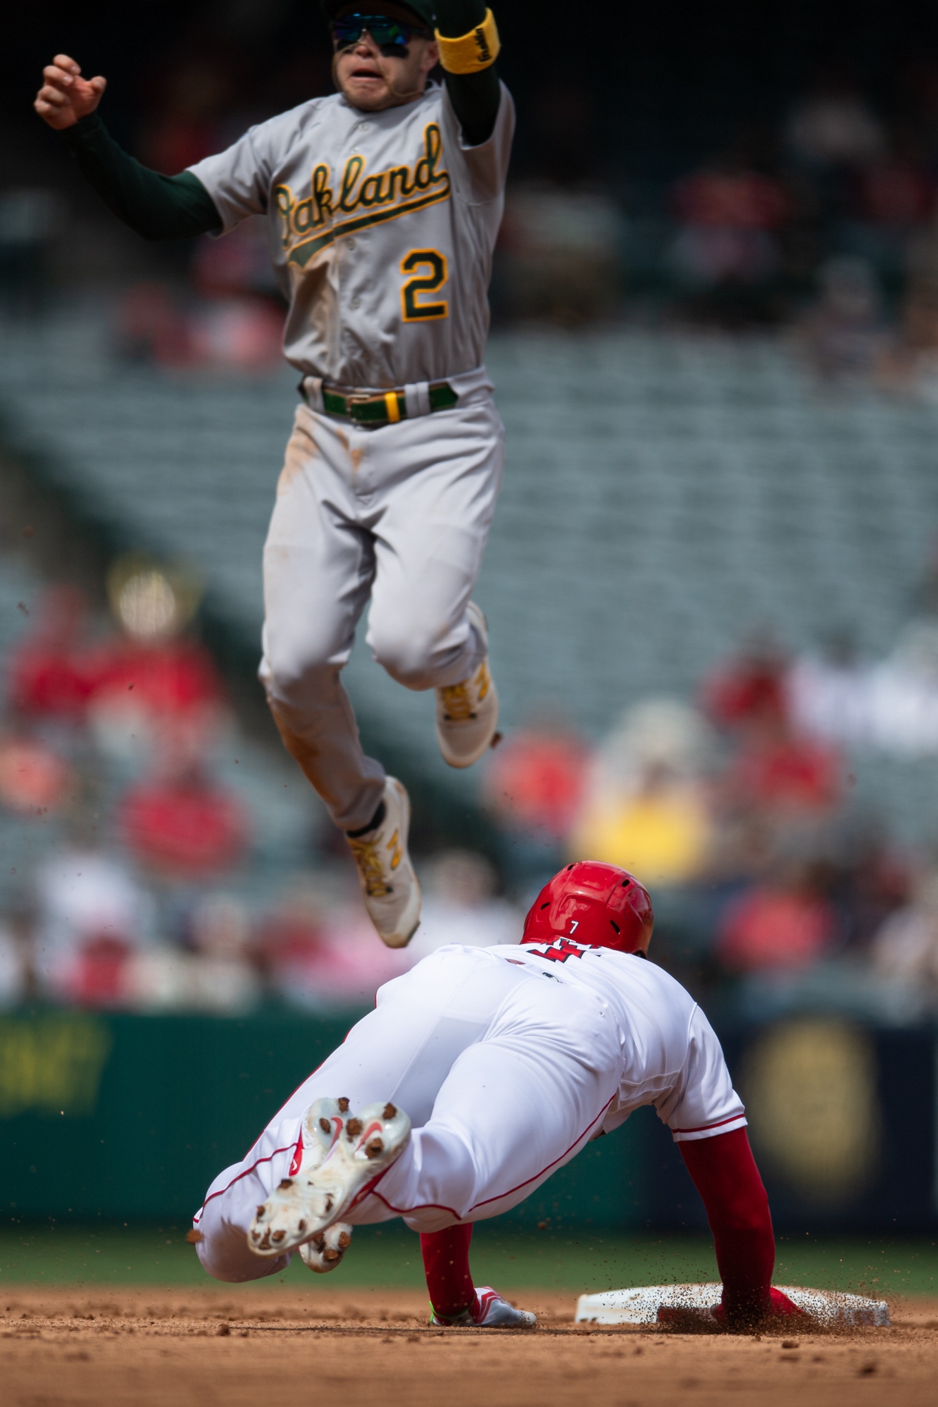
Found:
M 658 1310 L 712 1309 L 720 1303 L 723 1286 L 712 1285 L 641 1285 L 631 1290 L 605 1290 L 602 1294 L 581 1294 L 577 1300 L 578 1324 L 657 1324 Z M 795 1285 L 779 1285 L 779 1290 L 813 1314 L 823 1324 L 869 1324 L 887 1327 L 886 1300 L 868 1300 L 862 1294 L 841 1294 L 833 1290 L 806 1290 Z M 795 1325 L 792 1325 L 795 1328 Z

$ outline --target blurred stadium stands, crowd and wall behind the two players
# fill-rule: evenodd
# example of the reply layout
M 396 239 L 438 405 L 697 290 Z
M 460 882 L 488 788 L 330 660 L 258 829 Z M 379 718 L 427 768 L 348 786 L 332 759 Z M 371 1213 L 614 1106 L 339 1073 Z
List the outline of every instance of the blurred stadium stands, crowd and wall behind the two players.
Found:
M 505 941 L 567 854 L 630 864 L 751 1100 L 783 1234 L 835 1237 L 831 1282 L 845 1247 L 859 1265 L 890 1245 L 930 1287 L 938 17 L 498 18 L 519 108 L 488 356 L 509 461 L 478 598 L 506 740 L 453 774 L 430 701 L 361 646 L 349 670 L 416 801 L 418 954 Z M 52 4 L 10 28 L 1 1247 L 14 1278 L 93 1278 L 117 1247 L 108 1275 L 159 1279 L 191 1273 L 207 1179 L 401 960 L 375 955 L 253 680 L 294 400 L 263 239 L 145 245 L 30 103 L 72 52 L 108 76 L 115 135 L 176 170 L 329 91 L 328 48 L 290 0 Z M 602 1228 L 624 1265 L 700 1227 L 648 1114 L 485 1245 L 536 1275 L 568 1234 Z M 387 1235 L 360 1275 L 399 1272 Z M 869 1240 L 896 1235 L 915 1240 Z

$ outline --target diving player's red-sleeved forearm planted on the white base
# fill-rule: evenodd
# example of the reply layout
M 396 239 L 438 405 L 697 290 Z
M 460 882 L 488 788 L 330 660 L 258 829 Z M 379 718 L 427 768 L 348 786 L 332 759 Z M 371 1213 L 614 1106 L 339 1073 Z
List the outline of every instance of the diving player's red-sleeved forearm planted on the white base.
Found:
M 745 1128 L 682 1142 L 681 1152 L 713 1233 L 727 1321 L 754 1323 L 771 1304 L 775 1235 Z

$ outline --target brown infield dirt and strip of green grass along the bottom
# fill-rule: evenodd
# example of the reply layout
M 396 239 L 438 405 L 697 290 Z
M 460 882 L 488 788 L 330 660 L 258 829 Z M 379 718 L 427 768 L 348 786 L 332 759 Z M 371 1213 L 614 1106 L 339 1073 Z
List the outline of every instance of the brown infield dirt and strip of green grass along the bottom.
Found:
M 474 1265 L 539 1314 L 534 1331 L 428 1327 L 416 1238 L 359 1230 L 340 1269 L 294 1261 L 262 1285 L 207 1280 L 184 1227 L 13 1225 L 0 1238 L 0 1372 L 15 1407 L 314 1401 L 924 1404 L 938 1370 L 928 1240 L 779 1237 L 776 1283 L 890 1301 L 890 1328 L 689 1335 L 577 1325 L 584 1290 L 716 1278 L 703 1238 L 482 1227 Z

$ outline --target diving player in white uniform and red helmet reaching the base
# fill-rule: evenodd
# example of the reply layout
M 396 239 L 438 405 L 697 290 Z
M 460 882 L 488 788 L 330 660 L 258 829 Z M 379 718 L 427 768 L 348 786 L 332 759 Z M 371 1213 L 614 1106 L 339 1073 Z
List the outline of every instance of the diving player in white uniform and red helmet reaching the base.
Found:
M 707 1210 L 717 1323 L 799 1313 L 771 1287 L 768 1199 L 720 1043 L 645 961 L 653 922 L 637 879 L 579 862 L 540 892 L 522 947 L 453 944 L 383 986 L 375 1010 L 212 1182 L 190 1233 L 208 1273 L 273 1275 L 294 1249 L 330 1271 L 353 1225 L 402 1217 L 420 1233 L 433 1323 L 532 1325 L 474 1287 L 473 1223 L 518 1206 L 591 1138 L 654 1104 Z

